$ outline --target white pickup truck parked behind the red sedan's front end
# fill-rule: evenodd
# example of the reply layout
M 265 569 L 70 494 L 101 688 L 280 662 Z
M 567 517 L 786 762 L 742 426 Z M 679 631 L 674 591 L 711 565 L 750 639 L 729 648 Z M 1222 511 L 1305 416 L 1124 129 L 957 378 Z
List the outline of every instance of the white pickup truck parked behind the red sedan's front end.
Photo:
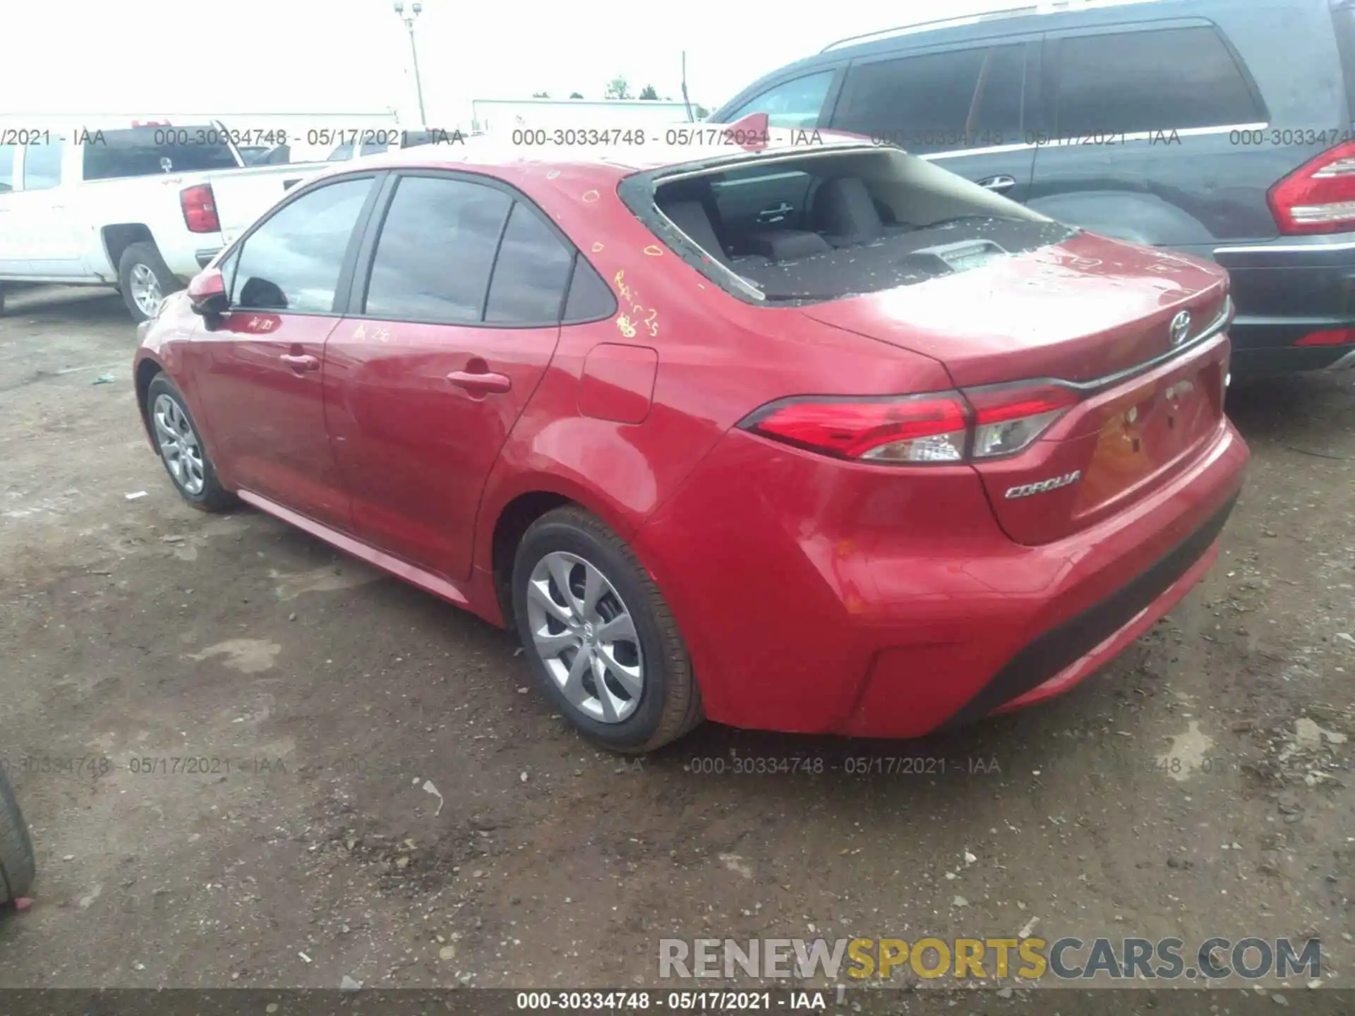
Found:
M 247 167 L 218 122 L 0 121 L 5 283 L 115 287 L 137 321 L 322 163 Z

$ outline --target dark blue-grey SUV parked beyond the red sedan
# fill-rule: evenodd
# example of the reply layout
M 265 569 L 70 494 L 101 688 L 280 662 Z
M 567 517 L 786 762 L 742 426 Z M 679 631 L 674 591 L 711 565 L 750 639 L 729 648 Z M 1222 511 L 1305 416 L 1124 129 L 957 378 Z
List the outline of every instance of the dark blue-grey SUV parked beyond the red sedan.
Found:
M 1355 366 L 1352 110 L 1355 0 L 1123 0 L 843 39 L 710 119 L 866 134 L 1051 218 L 1213 259 L 1241 373 Z M 816 218 L 794 173 L 715 199 Z

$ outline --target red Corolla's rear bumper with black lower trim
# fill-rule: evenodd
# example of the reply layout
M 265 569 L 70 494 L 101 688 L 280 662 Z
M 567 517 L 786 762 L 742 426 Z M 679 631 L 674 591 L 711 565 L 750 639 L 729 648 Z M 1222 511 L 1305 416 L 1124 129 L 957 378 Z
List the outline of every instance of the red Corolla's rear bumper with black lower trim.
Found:
M 726 436 L 641 527 L 637 553 L 711 719 L 858 737 L 957 726 L 1096 671 L 1209 569 L 1248 459 L 1221 421 L 1163 488 L 1023 546 L 967 470 L 934 470 L 953 488 L 924 497 L 909 477 L 882 484 L 756 440 Z

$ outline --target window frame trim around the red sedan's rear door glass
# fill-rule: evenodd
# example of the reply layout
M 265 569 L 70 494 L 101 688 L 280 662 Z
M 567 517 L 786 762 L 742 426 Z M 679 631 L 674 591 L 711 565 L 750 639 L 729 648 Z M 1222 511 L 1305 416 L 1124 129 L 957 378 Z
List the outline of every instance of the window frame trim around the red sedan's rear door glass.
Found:
M 486 309 L 488 302 L 489 302 L 489 290 L 493 287 L 493 283 L 495 283 L 495 268 L 499 266 L 499 252 L 503 248 L 503 236 L 504 236 L 504 232 L 508 229 L 508 222 L 512 219 L 512 211 L 514 211 L 514 209 L 512 209 L 512 206 L 509 206 L 508 214 L 504 215 L 503 225 L 500 226 L 500 230 L 499 230 L 499 244 L 495 247 L 495 260 L 491 264 L 489 278 L 485 282 L 485 294 L 484 294 L 484 298 L 481 299 L 481 306 L 480 306 L 480 318 L 481 320 L 480 321 L 458 321 L 455 324 L 450 324 L 447 321 L 423 321 L 423 320 L 417 320 L 417 318 L 396 318 L 396 320 L 408 321 L 408 324 L 444 325 L 447 328 L 491 328 L 491 329 L 499 331 L 499 329 L 505 329 L 505 328 L 549 328 L 551 325 L 562 325 L 562 324 L 572 324 L 572 325 L 575 325 L 575 324 L 585 324 L 587 321 L 604 321 L 606 318 L 608 318 L 608 317 L 611 317 L 612 314 L 617 313 L 617 309 L 615 309 L 615 295 L 612 295 L 612 305 L 614 306 L 612 306 L 612 309 L 607 314 L 599 316 L 599 317 L 587 318 L 587 321 L 565 321 L 564 320 L 565 305 L 569 302 L 569 290 L 573 286 L 575 275 L 579 271 L 579 263 L 580 263 L 580 260 L 588 263 L 589 267 L 593 267 L 593 266 L 589 261 L 587 261 L 587 257 L 584 256 L 583 251 L 579 249 L 579 245 L 573 240 L 570 240 L 560 226 L 556 225 L 556 222 L 550 218 L 550 215 L 547 215 L 541 209 L 541 206 L 537 205 L 537 202 L 534 202 L 531 198 L 528 198 L 526 194 L 523 194 L 522 191 L 519 191 L 512 184 L 504 183 L 503 180 L 500 180 L 500 179 L 497 179 L 495 176 L 486 176 L 484 173 L 461 172 L 461 171 L 457 171 L 457 169 L 400 169 L 400 171 L 388 171 L 388 172 L 389 172 L 389 179 L 386 179 L 379 188 L 375 188 L 375 190 L 379 191 L 379 199 L 377 199 L 375 205 L 373 206 L 371 214 L 367 215 L 366 219 L 364 219 L 366 221 L 366 226 L 363 229 L 362 242 L 359 244 L 359 247 L 356 249 L 356 253 L 355 253 L 355 259 L 354 259 L 354 275 L 350 279 L 351 289 L 348 291 L 348 298 L 347 298 L 347 301 L 344 303 L 346 313 L 343 314 L 343 317 L 351 317 L 351 318 L 358 320 L 358 321 L 389 321 L 389 320 L 392 320 L 392 318 L 377 317 L 375 314 L 367 314 L 367 313 L 364 313 L 364 305 L 366 305 L 366 299 L 367 299 L 367 289 L 371 284 L 371 270 L 373 270 L 373 267 L 375 264 L 375 260 L 377 260 L 377 257 L 375 257 L 377 256 L 377 241 L 381 237 L 381 230 L 382 230 L 382 228 L 386 224 L 386 214 L 390 211 L 390 205 L 394 200 L 396 187 L 398 186 L 398 182 L 401 179 L 413 177 L 413 176 L 423 176 L 423 177 L 430 177 L 430 179 L 434 179 L 434 180 L 461 180 L 463 183 L 474 183 L 474 184 L 480 184 L 482 187 L 491 187 L 491 188 L 493 188 L 496 191 L 501 191 L 514 203 L 523 205 L 523 206 L 526 206 L 526 209 L 528 211 L 531 211 L 533 214 L 535 214 L 537 218 L 541 219 L 546 225 L 546 228 L 554 234 L 554 237 L 557 240 L 560 240 L 561 244 L 564 244 L 565 249 L 573 252 L 573 263 L 572 263 L 572 267 L 570 267 L 570 271 L 569 271 L 569 278 L 566 279 L 566 283 L 565 283 L 564 294 L 560 298 L 560 313 L 558 313 L 556 321 L 541 321 L 541 322 L 535 322 L 535 324 L 508 324 L 508 322 L 503 322 L 503 321 L 485 321 L 484 317 L 485 317 L 485 309 Z M 603 278 L 602 272 L 599 272 L 596 270 L 596 267 L 593 267 L 593 272 L 599 278 Z M 610 287 L 608 287 L 608 290 L 610 290 Z

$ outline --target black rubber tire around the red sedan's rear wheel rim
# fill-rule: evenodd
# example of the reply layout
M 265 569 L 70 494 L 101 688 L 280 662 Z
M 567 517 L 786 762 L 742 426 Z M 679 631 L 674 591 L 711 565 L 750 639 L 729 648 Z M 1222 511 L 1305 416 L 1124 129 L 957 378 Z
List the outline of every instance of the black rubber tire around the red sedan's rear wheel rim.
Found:
M 634 622 L 644 684 L 619 722 L 584 713 L 561 691 L 533 639 L 527 591 L 533 569 L 553 551 L 583 558 L 611 584 Z M 551 702 L 585 737 L 614 752 L 642 753 L 675 741 L 702 719 L 701 690 L 678 623 L 626 542 L 581 508 L 557 508 L 531 524 L 518 545 L 512 573 L 514 618 L 526 656 Z

